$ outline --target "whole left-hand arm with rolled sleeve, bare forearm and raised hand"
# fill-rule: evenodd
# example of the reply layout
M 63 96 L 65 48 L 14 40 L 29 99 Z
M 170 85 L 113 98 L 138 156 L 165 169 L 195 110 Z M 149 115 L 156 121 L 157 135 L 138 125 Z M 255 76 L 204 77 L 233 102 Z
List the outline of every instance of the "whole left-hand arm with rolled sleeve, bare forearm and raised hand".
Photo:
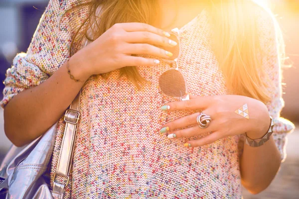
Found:
M 168 53 L 156 46 L 176 45 L 167 33 L 148 24 L 115 24 L 70 58 L 71 74 L 80 80 L 76 83 L 70 79 L 66 63 L 60 67 L 58 63 L 67 60 L 66 41 L 72 39 L 64 32 L 68 28 L 59 28 L 61 15 L 59 2 L 50 0 L 27 53 L 17 55 L 7 70 L 1 106 L 5 134 L 16 146 L 30 142 L 53 125 L 91 75 L 125 66 L 154 66 L 158 60 L 131 55 L 167 58 Z M 69 24 L 63 20 L 61 25 Z

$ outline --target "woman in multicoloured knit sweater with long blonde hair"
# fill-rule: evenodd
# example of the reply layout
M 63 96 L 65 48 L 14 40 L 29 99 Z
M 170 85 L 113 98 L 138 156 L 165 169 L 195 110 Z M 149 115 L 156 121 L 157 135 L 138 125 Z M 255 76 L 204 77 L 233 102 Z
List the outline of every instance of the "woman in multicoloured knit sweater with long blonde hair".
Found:
M 50 0 L 7 71 L 5 133 L 21 146 L 60 118 L 53 177 L 61 115 L 82 88 L 65 198 L 241 198 L 241 184 L 257 194 L 294 129 L 280 117 L 279 42 L 272 15 L 247 0 Z M 161 90 L 177 48 L 190 100 Z M 270 116 L 274 133 L 258 144 Z

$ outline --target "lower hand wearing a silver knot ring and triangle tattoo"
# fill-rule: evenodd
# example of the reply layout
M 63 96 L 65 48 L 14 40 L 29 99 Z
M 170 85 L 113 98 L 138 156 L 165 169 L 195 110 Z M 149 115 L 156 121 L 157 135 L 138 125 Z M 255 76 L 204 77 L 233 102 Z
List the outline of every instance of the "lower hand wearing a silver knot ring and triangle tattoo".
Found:
M 246 103 L 249 119 L 235 113 L 235 110 Z M 259 100 L 245 96 L 190 96 L 190 100 L 166 103 L 162 109 L 166 111 L 198 110 L 194 114 L 165 124 L 161 129 L 161 132 L 172 131 L 167 136 L 170 139 L 207 134 L 201 139 L 188 141 L 184 144 L 187 147 L 210 144 L 223 137 L 245 132 L 248 137 L 259 139 L 267 133 L 270 126 L 270 116 L 266 105 Z M 211 117 L 210 125 L 207 128 L 198 126 L 196 118 L 199 112 Z M 178 130 L 178 128 L 183 129 Z

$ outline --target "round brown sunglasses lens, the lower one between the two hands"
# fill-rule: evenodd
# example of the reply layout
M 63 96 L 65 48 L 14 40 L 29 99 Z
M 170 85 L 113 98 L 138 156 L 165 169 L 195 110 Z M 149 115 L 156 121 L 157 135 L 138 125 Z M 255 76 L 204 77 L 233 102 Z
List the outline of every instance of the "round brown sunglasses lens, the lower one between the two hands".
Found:
M 159 78 L 159 86 L 162 92 L 172 97 L 182 97 L 186 93 L 186 84 L 181 72 L 170 69 Z

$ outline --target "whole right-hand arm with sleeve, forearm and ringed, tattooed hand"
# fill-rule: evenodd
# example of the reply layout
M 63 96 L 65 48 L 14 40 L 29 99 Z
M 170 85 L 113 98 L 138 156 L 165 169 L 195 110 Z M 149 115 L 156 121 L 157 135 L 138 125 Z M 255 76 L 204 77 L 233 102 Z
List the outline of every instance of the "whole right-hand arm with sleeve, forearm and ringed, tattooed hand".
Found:
M 262 29 L 259 31 L 259 36 L 261 48 L 265 51 L 265 55 L 262 57 L 263 69 L 269 74 L 269 78 L 263 80 L 270 87 L 270 102 L 264 104 L 259 100 L 237 95 L 204 97 L 190 95 L 190 100 L 169 102 L 162 106 L 162 110 L 165 111 L 201 110 L 202 113 L 210 116 L 211 122 L 206 128 L 198 126 L 197 116 L 199 112 L 161 126 L 161 132 L 167 131 L 166 134 L 168 134 L 169 139 L 201 135 L 199 139 L 187 141 L 184 144 L 185 147 L 199 147 L 224 137 L 241 135 L 245 132 L 251 139 L 260 139 L 268 132 L 270 115 L 275 124 L 270 139 L 259 147 L 251 147 L 244 143 L 244 151 L 241 156 L 242 184 L 253 194 L 266 189 L 274 179 L 281 160 L 284 158 L 285 136 L 294 129 L 294 125 L 290 121 L 280 118 L 284 101 L 282 99 L 281 68 L 275 36 L 276 30 L 273 19 L 269 13 L 264 12 L 264 16 L 259 17 L 258 26 Z M 235 112 L 245 104 L 248 106 L 248 118 L 245 118 L 244 112 L 240 112 L 243 115 Z

